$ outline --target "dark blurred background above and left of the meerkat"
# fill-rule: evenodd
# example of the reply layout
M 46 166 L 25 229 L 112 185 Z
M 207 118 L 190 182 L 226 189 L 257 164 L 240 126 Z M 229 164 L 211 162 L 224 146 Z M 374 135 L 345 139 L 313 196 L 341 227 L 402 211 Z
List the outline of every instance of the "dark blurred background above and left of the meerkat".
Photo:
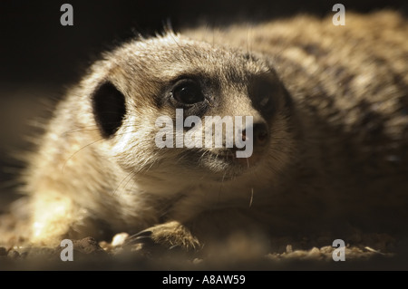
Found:
M 61 5 L 73 5 L 62 26 Z M 335 3 L 362 13 L 382 8 L 407 14 L 407 1 L 0 1 L 0 211 L 18 184 L 29 120 L 44 113 L 40 99 L 59 98 L 106 48 L 135 33 L 154 34 L 170 21 L 177 31 L 197 24 L 261 21 L 298 13 L 334 14 Z M 346 18 L 345 18 L 346 19 Z M 378 27 L 381 29 L 381 27 Z

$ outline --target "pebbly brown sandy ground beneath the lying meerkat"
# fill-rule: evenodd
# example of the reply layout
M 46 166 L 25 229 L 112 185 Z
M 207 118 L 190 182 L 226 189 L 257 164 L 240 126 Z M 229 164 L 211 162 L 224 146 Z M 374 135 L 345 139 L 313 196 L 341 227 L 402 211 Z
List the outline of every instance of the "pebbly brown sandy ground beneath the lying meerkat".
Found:
M 0 244 L 0 270 L 408 270 L 404 243 L 380 234 L 356 232 L 342 252 L 332 246 L 333 236 L 326 235 L 275 238 L 268 253 L 257 251 L 256 244 L 232 244 L 203 256 L 154 246 L 125 246 L 126 233 L 110 242 L 97 242 L 92 236 L 73 240 L 72 251 L 66 244 L 30 246 L 15 235 L 16 224 L 12 214 L 0 216 L 0 236 L 7 239 Z M 336 256 L 340 260 L 335 261 Z

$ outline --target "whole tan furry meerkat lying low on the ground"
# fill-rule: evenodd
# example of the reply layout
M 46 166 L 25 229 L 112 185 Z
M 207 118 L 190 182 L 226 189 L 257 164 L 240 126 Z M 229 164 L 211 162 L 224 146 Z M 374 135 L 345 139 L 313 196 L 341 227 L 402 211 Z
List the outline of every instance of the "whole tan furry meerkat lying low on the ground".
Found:
M 104 53 L 28 160 L 29 240 L 127 232 L 131 243 L 194 251 L 348 226 L 401 233 L 407 31 L 393 12 L 347 13 L 345 26 L 299 15 L 167 31 Z M 183 120 L 251 116 L 252 138 L 239 136 L 252 155 L 159 148 L 156 121 L 178 109 Z

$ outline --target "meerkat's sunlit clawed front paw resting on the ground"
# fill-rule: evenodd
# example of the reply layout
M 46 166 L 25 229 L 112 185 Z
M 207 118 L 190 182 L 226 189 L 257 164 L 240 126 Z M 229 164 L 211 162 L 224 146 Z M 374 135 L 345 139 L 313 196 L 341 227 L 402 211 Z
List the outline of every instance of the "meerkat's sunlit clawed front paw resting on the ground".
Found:
M 127 246 L 141 245 L 142 250 L 180 249 L 185 252 L 198 251 L 201 248 L 199 240 L 193 236 L 186 226 L 172 221 L 158 226 L 151 226 L 126 241 Z

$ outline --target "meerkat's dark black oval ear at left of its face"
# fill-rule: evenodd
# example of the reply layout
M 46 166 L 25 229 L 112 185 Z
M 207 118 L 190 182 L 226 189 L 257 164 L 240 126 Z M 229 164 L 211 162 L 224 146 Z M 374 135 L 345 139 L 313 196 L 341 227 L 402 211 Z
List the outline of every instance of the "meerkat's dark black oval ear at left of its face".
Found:
M 112 82 L 102 82 L 92 94 L 92 111 L 103 138 L 111 138 L 126 114 L 125 97 Z

